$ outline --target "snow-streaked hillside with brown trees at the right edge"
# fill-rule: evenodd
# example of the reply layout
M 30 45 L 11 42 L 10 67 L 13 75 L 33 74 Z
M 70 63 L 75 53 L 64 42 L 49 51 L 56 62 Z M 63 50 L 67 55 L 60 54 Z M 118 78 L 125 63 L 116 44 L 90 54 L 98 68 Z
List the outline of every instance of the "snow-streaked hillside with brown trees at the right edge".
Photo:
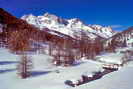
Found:
M 128 28 L 125 31 L 115 34 L 106 41 L 106 46 L 113 47 L 133 47 L 133 27 Z

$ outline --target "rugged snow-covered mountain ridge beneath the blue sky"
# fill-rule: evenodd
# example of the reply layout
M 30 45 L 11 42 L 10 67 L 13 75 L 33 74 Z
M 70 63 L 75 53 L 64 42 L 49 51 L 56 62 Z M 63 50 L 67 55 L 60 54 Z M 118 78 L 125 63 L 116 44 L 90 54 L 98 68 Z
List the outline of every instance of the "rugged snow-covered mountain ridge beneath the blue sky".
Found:
M 48 28 L 54 31 L 61 32 L 71 37 L 80 37 L 82 33 L 89 38 L 109 38 L 115 34 L 111 27 L 103 27 L 101 25 L 86 25 L 80 19 L 63 19 L 56 15 L 45 13 L 42 16 L 34 16 L 32 14 L 24 15 L 21 19 L 26 20 L 29 24 L 43 30 Z

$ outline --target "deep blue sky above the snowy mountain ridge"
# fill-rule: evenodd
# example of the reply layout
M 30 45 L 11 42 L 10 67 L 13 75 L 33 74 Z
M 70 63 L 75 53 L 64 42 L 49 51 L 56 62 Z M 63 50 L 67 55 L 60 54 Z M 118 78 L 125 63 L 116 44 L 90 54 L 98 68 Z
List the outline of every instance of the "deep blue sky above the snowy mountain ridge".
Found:
M 133 26 L 133 0 L 0 0 L 0 7 L 17 16 L 43 15 L 80 18 L 86 24 L 125 30 Z

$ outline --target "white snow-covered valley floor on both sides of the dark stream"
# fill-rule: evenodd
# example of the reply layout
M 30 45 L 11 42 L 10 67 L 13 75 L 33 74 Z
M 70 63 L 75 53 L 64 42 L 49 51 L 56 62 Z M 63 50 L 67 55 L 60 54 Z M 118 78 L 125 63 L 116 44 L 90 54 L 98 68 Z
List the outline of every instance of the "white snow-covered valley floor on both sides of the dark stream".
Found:
M 0 48 L 0 89 L 133 89 L 133 62 L 101 79 L 70 87 L 65 85 L 66 80 L 78 79 L 85 72 L 97 71 L 102 68 L 102 63 L 84 60 L 75 66 L 55 67 L 50 64 L 52 59 L 48 55 L 32 55 L 32 59 L 32 76 L 21 79 L 16 70 L 19 56 Z

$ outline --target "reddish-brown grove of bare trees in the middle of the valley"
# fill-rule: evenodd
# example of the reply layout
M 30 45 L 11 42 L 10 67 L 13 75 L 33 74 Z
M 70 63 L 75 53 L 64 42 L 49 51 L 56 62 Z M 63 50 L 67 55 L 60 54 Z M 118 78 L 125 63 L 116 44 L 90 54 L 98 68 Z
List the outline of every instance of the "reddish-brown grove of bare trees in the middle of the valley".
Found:
M 103 44 L 100 39 L 89 40 L 88 37 L 82 34 L 80 40 L 72 41 L 71 39 L 63 39 L 55 41 L 55 44 L 50 43 L 50 55 L 53 50 L 54 63 L 56 65 L 72 65 L 75 60 L 82 57 L 87 59 L 94 59 L 96 55 L 103 51 Z M 56 47 L 55 47 L 56 46 Z M 51 50 L 51 48 L 53 48 Z M 55 49 L 54 49 L 55 48 Z

